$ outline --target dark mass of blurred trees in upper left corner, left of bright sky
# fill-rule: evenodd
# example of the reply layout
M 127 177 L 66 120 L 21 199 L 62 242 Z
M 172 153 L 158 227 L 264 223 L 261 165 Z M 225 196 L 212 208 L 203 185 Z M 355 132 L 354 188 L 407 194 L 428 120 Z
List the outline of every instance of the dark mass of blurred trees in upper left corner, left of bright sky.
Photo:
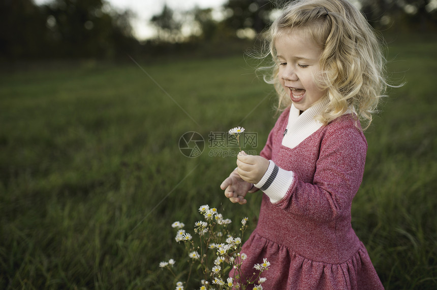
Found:
M 0 58 L 111 58 L 138 45 L 131 17 L 104 0 L 2 0 Z

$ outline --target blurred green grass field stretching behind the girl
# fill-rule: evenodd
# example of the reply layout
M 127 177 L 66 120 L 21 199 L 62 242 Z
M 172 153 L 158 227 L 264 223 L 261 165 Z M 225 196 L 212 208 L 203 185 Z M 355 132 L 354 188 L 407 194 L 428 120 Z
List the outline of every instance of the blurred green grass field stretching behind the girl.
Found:
M 352 223 L 386 289 L 437 288 L 433 36 L 389 44 L 389 71 L 407 84 L 366 131 Z M 174 221 L 190 230 L 209 204 L 234 230 L 244 216 L 254 228 L 261 196 L 224 197 L 235 157 L 210 156 L 208 134 L 243 126 L 259 152 L 272 88 L 242 54 L 137 61 L 1 71 L 0 288 L 173 289 L 158 264 L 180 256 Z M 178 149 L 188 131 L 205 138 L 199 157 Z

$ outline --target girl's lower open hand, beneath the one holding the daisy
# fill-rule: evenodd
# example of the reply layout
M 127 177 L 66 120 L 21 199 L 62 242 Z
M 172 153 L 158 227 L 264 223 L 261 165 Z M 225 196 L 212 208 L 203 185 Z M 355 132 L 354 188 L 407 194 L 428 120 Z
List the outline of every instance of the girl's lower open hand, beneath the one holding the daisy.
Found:
M 237 170 L 232 171 L 228 178 L 224 180 L 221 189 L 225 191 L 225 196 L 233 203 L 245 204 L 247 202 L 244 197 L 247 192 L 253 192 L 253 190 L 258 190 L 254 188 L 252 184 L 246 183 L 241 179 Z

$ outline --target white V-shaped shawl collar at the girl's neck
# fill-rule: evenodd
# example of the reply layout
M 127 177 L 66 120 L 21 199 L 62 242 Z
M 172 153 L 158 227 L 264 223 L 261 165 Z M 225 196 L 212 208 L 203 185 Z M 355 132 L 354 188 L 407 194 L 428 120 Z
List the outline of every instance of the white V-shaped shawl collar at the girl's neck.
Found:
M 328 103 L 329 99 L 324 98 L 320 102 L 307 108 L 300 115 L 300 111 L 291 104 L 287 131 L 282 139 L 282 144 L 288 148 L 295 148 L 309 137 L 309 135 L 319 130 L 319 128 L 323 126 L 323 123 L 317 121 L 315 117 L 322 113 Z

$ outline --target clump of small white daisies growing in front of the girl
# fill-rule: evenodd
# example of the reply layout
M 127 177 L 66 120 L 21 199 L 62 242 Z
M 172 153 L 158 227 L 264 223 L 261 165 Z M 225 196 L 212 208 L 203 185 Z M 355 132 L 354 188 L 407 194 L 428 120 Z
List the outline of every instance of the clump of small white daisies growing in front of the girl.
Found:
M 188 283 L 193 274 L 192 270 L 195 264 L 198 265 L 197 269 L 202 269 L 202 271 L 196 271 L 196 273 L 200 272 L 201 286 L 199 289 L 201 290 L 232 289 L 233 287 L 246 289 L 245 283 L 252 285 L 253 289 L 262 289 L 261 284 L 266 278 L 261 277 L 261 273 L 269 268 L 270 262 L 264 259 L 263 263 L 254 265 L 254 269 L 259 272 L 258 274 L 254 273 L 252 277 L 242 277 L 240 268 L 247 259 L 247 255 L 241 252 L 241 237 L 231 234 L 227 228 L 231 224 L 231 220 L 224 219 L 216 208 L 210 208 L 207 204 L 199 207 L 199 213 L 204 218 L 203 221 L 194 224 L 194 232 L 200 240 L 199 245 L 195 244 L 193 235 L 183 229 L 185 227 L 183 223 L 174 222 L 171 225 L 176 229 L 175 241 L 177 243 L 182 242 L 185 245 L 188 257 L 182 258 L 182 263 L 189 264 L 189 267 L 183 267 L 183 269 L 188 268 L 188 270 L 185 270 L 188 276 L 187 280 L 185 282 L 177 281 L 175 289 L 184 289 L 184 284 Z M 247 218 L 241 220 L 241 236 L 247 228 L 247 221 Z M 174 273 L 175 263 L 174 259 L 170 259 L 168 262 L 161 262 L 159 266 L 162 269 L 168 269 L 175 279 L 178 279 L 181 275 Z M 231 268 L 236 269 L 235 279 L 228 277 Z M 244 284 L 241 284 L 241 281 L 244 281 Z

